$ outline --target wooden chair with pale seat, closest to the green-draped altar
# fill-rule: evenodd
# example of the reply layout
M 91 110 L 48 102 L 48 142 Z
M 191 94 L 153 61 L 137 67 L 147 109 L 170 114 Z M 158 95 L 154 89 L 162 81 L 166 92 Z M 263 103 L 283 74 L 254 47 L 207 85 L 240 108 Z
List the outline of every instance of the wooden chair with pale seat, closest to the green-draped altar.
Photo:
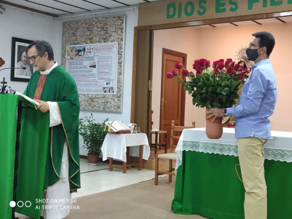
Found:
M 172 161 L 176 160 L 177 154 L 173 153 L 173 139 L 179 139 L 180 135 L 174 135 L 175 131 L 182 132 L 185 128 L 194 128 L 195 122 L 193 121 L 192 126 L 174 126 L 174 121 L 171 121 L 171 134 L 170 134 L 170 152 L 168 154 L 156 154 L 155 156 L 155 185 L 158 185 L 158 175 L 168 174 L 168 182 L 172 181 L 172 175 L 175 175 L 172 168 Z M 158 164 L 159 159 L 169 159 L 169 171 L 159 171 Z

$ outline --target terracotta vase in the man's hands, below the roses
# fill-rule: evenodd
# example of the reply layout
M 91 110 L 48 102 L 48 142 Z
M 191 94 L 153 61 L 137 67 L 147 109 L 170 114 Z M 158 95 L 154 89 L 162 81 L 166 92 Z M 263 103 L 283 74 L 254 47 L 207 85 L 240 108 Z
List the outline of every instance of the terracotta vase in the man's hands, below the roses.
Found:
M 212 122 L 214 117 L 207 119 L 209 115 L 210 114 L 206 114 L 206 134 L 208 138 L 219 139 L 223 134 L 222 117 L 218 117 Z

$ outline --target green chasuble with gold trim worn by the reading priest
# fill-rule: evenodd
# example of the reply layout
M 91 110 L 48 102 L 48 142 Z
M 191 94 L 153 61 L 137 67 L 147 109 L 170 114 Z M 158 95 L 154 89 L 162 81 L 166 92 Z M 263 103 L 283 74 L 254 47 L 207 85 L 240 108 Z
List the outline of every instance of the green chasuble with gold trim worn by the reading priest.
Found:
M 39 71 L 32 74 L 24 92 L 32 99 L 40 75 Z M 47 75 L 40 100 L 57 102 L 62 121 L 62 124 L 44 130 L 49 132 L 44 191 L 60 180 L 61 161 L 66 140 L 68 142 L 70 191 L 76 192 L 80 188 L 78 127 L 80 105 L 76 83 L 64 68 L 57 66 Z

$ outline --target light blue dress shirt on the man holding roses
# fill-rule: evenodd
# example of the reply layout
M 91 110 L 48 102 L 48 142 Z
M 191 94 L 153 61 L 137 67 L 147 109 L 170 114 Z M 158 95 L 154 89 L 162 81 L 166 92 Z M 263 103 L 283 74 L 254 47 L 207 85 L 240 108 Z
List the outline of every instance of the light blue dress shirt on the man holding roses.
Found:
M 277 101 L 277 81 L 270 59 L 263 59 L 252 67 L 244 83 L 238 105 L 226 109 L 235 117 L 235 138 L 256 137 L 270 139 L 271 122 Z

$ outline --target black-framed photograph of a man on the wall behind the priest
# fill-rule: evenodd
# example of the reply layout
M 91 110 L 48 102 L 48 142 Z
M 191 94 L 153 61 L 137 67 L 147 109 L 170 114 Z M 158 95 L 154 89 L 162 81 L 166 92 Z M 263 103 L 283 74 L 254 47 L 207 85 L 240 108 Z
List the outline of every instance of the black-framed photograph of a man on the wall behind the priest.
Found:
M 11 81 L 23 81 L 28 82 L 30 76 L 34 72 L 34 66 L 30 64 L 27 59 L 25 50 L 27 46 L 32 43 L 32 40 L 20 39 L 12 37 L 12 49 L 11 49 Z M 25 69 L 13 69 L 23 68 Z

